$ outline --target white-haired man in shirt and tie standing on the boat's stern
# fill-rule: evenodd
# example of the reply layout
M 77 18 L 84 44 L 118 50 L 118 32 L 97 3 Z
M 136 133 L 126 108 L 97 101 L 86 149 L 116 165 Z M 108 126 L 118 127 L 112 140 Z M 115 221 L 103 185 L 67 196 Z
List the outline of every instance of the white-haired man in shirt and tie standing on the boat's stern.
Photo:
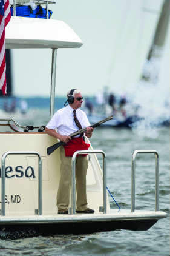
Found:
M 68 105 L 66 106 L 66 103 Z M 83 97 L 78 89 L 71 89 L 67 93 L 65 107 L 54 113 L 53 118 L 47 124 L 45 132 L 54 138 L 65 143 L 60 147 L 60 182 L 57 192 L 58 214 L 68 214 L 68 205 L 71 188 L 71 159 L 73 153 L 77 150 L 87 150 L 90 144 L 85 143 L 83 135 L 70 138 L 71 133 L 78 129 L 87 127 L 85 136 L 90 138 L 93 133 L 93 127 L 90 126 L 87 115 L 80 110 L 83 103 Z M 56 132 L 57 129 L 57 132 Z M 94 210 L 88 208 L 86 195 L 86 174 L 88 160 L 85 155 L 79 155 L 76 159 L 76 190 L 77 190 L 77 213 L 93 214 Z

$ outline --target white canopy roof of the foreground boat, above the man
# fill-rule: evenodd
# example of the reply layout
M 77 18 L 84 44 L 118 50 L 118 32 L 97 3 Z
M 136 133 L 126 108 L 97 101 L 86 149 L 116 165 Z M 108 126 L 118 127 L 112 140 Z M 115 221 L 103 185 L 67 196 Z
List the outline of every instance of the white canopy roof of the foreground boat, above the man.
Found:
M 11 16 L 5 27 L 5 47 L 78 48 L 83 44 L 63 21 Z

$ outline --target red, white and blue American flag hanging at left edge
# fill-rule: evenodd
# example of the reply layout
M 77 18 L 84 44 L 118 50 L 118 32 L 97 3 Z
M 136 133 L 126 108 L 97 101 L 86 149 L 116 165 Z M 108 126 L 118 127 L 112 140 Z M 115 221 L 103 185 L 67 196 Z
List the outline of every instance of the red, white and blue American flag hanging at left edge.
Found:
M 0 90 L 7 93 L 6 61 L 5 61 L 5 27 L 10 21 L 11 12 L 9 0 L 0 0 Z

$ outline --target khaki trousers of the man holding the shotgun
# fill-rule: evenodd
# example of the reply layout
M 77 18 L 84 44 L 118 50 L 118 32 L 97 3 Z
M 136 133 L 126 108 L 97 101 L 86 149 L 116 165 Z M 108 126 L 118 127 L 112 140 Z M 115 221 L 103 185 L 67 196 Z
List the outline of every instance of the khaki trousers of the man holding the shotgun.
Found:
M 70 200 L 71 189 L 71 159 L 65 157 L 64 147 L 60 147 L 60 182 L 57 192 L 57 207 L 58 210 L 66 209 Z M 77 190 L 77 211 L 87 209 L 86 195 L 86 174 L 88 168 L 87 157 L 79 156 L 76 159 L 76 190 Z

